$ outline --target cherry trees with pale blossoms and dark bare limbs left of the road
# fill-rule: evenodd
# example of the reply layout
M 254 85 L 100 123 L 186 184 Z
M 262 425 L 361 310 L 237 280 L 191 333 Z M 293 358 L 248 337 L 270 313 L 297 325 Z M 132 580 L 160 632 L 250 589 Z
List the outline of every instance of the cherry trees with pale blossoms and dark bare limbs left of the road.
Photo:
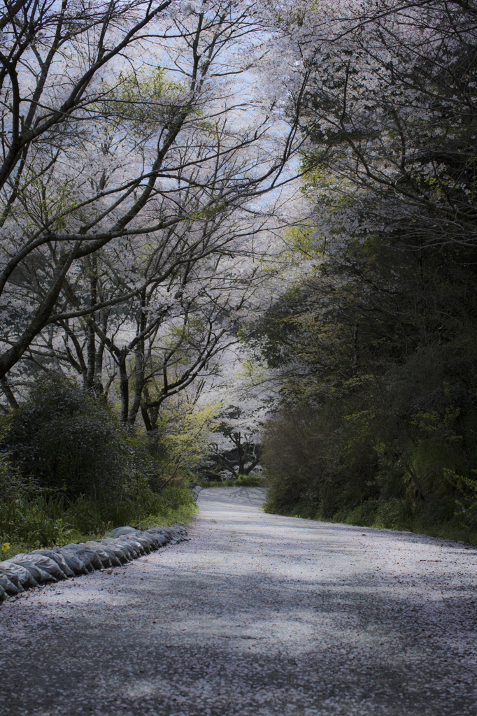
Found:
M 105 351 L 121 372 L 165 314 L 189 320 L 185 284 L 240 243 L 240 231 L 218 228 L 254 216 L 251 203 L 289 181 L 297 126 L 277 132 L 270 107 L 241 95 L 263 54 L 257 9 L 7 4 L 0 377 L 11 404 L 6 374 L 39 344 L 57 360 L 60 331 L 91 389 Z M 109 329 L 125 315 L 138 330 L 118 346 Z M 121 380 L 125 391 L 124 370 Z

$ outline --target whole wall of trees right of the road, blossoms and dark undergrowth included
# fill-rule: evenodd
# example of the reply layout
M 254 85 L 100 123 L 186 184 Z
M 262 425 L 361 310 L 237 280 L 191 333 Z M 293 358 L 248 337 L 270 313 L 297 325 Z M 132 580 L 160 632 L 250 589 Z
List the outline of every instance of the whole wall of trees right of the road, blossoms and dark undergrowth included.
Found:
M 313 12 L 295 39 L 307 271 L 253 332 L 283 376 L 269 508 L 475 539 L 477 8 Z

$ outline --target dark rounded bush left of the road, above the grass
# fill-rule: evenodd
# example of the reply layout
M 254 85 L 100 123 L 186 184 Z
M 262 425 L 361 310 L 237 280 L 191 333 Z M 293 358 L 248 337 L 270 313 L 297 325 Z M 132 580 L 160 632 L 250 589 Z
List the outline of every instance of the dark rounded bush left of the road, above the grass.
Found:
M 40 487 L 98 499 L 127 490 L 133 445 L 107 405 L 74 382 L 58 374 L 39 379 L 4 422 L 4 449 Z

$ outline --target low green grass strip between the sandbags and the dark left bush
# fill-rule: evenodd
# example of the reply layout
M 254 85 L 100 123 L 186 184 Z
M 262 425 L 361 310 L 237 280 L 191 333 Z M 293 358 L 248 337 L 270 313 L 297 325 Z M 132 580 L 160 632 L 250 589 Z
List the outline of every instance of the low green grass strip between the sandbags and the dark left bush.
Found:
M 41 547 L 102 539 L 112 528 L 125 525 L 185 525 L 196 511 L 191 490 L 175 487 L 160 493 L 143 490 L 110 502 L 85 496 L 67 500 L 48 493 L 18 498 L 0 504 L 0 560 Z

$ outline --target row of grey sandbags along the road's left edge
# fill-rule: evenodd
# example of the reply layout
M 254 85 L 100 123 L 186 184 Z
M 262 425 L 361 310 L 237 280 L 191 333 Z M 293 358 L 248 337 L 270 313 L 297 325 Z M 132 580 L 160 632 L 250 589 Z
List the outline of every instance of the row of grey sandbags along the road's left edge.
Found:
M 0 602 L 31 586 L 59 581 L 95 569 L 120 567 L 132 559 L 187 539 L 183 527 L 152 527 L 145 531 L 117 527 L 100 542 L 35 549 L 0 562 Z

